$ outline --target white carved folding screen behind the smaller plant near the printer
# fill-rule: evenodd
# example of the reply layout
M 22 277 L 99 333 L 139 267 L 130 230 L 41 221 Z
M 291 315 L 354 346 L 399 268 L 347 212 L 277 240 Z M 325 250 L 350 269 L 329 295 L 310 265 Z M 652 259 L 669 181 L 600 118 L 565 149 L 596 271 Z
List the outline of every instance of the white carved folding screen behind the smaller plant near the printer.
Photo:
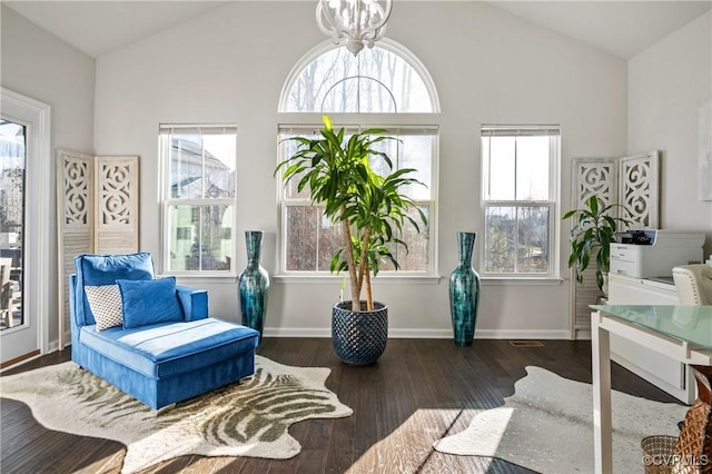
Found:
M 623 158 L 574 158 L 573 208 L 585 206 L 592 195 L 605 206 L 621 204 L 616 216 L 631 220 L 629 228 L 657 228 L 660 154 L 657 150 Z M 621 229 L 625 230 L 625 229 Z M 571 338 L 591 332 L 591 308 L 602 296 L 595 283 L 595 266 L 577 284 L 571 270 Z M 586 335 L 587 336 L 587 335 Z

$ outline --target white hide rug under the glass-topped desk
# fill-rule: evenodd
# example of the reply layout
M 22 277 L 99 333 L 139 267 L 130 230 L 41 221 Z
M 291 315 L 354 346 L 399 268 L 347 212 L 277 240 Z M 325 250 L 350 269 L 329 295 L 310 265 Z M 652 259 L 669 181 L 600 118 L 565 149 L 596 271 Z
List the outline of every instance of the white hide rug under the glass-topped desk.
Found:
M 502 407 L 479 412 L 462 433 L 434 443 L 442 453 L 498 457 L 541 473 L 593 473 L 590 384 L 526 367 Z M 613 391 L 613 471 L 642 473 L 641 440 L 676 436 L 686 406 Z

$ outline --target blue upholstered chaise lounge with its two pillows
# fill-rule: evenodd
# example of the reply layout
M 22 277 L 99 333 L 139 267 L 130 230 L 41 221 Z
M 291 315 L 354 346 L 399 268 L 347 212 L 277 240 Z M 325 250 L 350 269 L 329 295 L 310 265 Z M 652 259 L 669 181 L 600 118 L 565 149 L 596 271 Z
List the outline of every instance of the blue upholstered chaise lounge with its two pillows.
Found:
M 150 254 L 79 255 L 71 358 L 154 409 L 255 373 L 259 333 L 208 317 L 208 294 L 154 278 Z

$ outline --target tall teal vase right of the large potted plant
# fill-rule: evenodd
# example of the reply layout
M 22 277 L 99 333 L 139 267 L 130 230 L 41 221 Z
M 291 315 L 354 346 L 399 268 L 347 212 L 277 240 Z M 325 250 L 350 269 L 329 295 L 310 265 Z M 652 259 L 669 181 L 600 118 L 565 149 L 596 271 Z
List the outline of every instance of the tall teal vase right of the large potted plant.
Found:
M 449 312 L 455 345 L 472 346 L 479 306 L 479 275 L 472 267 L 475 233 L 457 233 L 459 263 L 449 276 Z

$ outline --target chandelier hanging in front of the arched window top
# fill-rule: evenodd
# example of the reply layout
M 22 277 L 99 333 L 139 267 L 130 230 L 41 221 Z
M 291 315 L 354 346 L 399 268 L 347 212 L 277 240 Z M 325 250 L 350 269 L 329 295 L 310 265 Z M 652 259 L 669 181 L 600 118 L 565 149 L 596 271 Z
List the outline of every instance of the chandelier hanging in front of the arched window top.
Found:
M 319 0 L 316 21 L 335 45 L 346 43 L 354 56 L 383 38 L 393 0 Z

